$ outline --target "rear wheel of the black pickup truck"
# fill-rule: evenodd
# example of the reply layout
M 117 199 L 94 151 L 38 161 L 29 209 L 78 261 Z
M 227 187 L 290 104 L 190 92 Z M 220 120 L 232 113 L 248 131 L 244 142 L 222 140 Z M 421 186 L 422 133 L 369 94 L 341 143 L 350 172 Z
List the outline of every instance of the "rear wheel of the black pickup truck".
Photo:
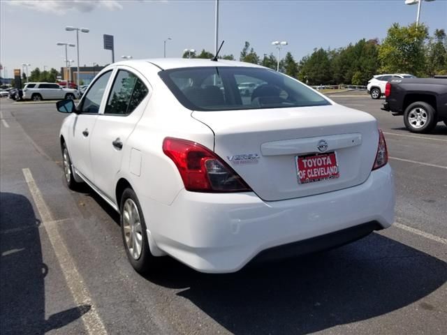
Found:
M 404 124 L 412 133 L 430 133 L 437 124 L 436 111 L 428 103 L 412 103 L 404 112 Z

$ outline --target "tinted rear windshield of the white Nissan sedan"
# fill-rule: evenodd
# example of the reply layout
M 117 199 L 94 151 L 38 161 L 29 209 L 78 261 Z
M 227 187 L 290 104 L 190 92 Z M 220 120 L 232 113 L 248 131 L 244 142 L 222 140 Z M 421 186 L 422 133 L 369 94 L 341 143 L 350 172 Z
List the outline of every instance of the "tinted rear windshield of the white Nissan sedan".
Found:
M 265 68 L 197 67 L 159 72 L 190 110 L 253 110 L 330 105 L 291 77 Z

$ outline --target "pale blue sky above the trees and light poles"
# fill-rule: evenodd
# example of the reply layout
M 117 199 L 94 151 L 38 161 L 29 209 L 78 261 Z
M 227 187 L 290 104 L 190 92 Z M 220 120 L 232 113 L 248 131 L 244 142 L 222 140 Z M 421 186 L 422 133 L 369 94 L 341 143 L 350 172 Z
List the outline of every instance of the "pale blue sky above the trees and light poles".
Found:
M 221 54 L 239 59 L 249 41 L 258 56 L 277 50 L 273 40 L 286 40 L 282 51 L 299 60 L 315 47 L 337 48 L 361 38 L 386 37 L 391 24 L 416 21 L 418 6 L 404 0 L 220 0 L 219 40 Z M 66 26 L 85 27 L 80 33 L 80 65 L 104 65 L 112 61 L 103 50 L 103 34 L 115 36 L 115 61 L 122 55 L 134 59 L 182 57 L 185 48 L 214 52 L 215 0 L 79 1 L 0 0 L 0 62 L 8 77 L 13 68 L 28 63 L 35 67 L 61 68 L 65 48 L 57 42 L 76 43 Z M 420 22 L 447 31 L 447 0 L 422 3 Z M 68 49 L 76 60 L 76 48 Z M 75 63 L 76 64 L 76 63 Z M 1 75 L 4 75 L 2 71 Z

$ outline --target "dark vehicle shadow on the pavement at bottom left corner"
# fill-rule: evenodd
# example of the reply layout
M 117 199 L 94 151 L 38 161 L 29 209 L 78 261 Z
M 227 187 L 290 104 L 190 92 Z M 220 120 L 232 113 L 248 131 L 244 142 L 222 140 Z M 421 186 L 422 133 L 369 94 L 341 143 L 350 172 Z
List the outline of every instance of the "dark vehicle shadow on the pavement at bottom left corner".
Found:
M 45 320 L 45 276 L 41 222 L 20 194 L 0 193 L 0 334 L 45 334 L 77 320 L 80 305 Z

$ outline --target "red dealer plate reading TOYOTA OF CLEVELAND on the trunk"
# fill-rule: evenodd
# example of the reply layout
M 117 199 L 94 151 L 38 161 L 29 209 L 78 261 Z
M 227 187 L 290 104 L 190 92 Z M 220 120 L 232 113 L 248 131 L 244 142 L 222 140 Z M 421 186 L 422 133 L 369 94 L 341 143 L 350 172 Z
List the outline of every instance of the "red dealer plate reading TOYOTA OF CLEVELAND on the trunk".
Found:
M 300 184 L 340 177 L 335 152 L 312 156 L 296 156 L 295 160 Z

